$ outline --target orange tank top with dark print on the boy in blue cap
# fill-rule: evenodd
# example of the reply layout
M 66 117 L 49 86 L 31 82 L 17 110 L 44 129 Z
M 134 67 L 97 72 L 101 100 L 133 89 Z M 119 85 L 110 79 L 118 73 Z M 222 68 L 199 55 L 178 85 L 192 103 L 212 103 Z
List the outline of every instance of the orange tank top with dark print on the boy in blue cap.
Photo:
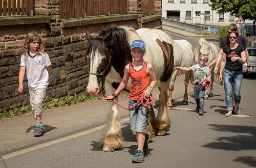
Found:
M 133 68 L 132 63 L 129 63 L 130 77 L 131 77 L 131 89 L 129 99 L 140 100 L 141 95 L 150 85 L 150 76 L 146 73 L 147 62 L 144 62 L 142 68 L 136 71 Z

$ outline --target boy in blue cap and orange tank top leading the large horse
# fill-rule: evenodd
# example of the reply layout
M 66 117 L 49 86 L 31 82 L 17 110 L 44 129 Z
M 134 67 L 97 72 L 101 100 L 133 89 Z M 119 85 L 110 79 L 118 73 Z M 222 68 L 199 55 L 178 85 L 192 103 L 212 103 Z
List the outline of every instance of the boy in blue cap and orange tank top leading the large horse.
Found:
M 133 62 L 124 68 L 123 79 L 117 90 L 110 96 L 106 96 L 106 100 L 112 101 L 125 88 L 129 77 L 131 77 L 131 89 L 129 94 L 129 107 L 134 106 L 140 101 L 141 96 L 150 97 L 151 91 L 156 85 L 157 79 L 153 66 L 143 60 L 146 53 L 146 46 L 142 40 L 135 40 L 131 44 L 131 54 Z M 151 82 L 150 82 L 151 79 Z M 144 160 L 145 153 L 148 149 L 148 134 L 146 125 L 148 120 L 147 107 L 141 102 L 133 109 L 129 110 L 130 125 L 133 134 L 136 135 L 138 149 L 135 151 L 132 162 L 141 163 Z

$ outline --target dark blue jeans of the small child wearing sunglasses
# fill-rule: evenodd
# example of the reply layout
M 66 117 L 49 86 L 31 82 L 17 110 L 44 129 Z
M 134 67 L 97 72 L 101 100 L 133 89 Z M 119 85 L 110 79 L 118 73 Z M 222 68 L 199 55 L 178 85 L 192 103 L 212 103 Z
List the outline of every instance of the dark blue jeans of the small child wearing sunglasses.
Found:
M 198 85 L 199 83 L 195 83 L 195 85 Z M 205 94 L 205 86 L 199 85 L 194 89 L 194 96 L 197 103 L 197 106 L 199 107 L 199 110 L 204 110 L 204 94 Z

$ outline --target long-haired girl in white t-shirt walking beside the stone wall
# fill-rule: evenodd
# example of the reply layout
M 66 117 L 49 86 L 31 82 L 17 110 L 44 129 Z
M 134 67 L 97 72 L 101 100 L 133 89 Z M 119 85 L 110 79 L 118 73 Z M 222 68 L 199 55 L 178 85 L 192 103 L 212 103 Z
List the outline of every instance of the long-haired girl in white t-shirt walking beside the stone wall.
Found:
M 52 69 L 49 55 L 42 50 L 41 39 L 38 34 L 31 32 L 24 43 L 22 58 L 20 59 L 18 92 L 23 93 L 23 79 L 25 70 L 28 78 L 30 104 L 35 116 L 36 126 L 34 135 L 42 135 L 45 129 L 42 125 L 42 100 L 46 95 L 49 83 L 49 73 Z

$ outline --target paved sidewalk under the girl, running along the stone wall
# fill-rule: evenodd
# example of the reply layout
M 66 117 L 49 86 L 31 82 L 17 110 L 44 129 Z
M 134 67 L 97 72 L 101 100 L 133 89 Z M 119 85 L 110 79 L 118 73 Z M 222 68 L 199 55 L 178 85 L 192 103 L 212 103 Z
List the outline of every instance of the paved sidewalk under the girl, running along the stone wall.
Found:
M 189 88 L 188 93 L 193 93 L 193 89 Z M 177 76 L 173 99 L 180 99 L 183 95 L 184 85 L 181 78 Z M 127 97 L 122 95 L 118 101 L 122 105 L 127 106 Z M 153 97 L 156 104 L 158 104 L 159 91 L 157 87 L 153 90 Z M 35 120 L 30 113 L 4 119 L 0 121 L 0 155 L 9 154 L 103 125 L 106 122 L 108 108 L 109 102 L 102 99 L 44 110 L 42 123 L 46 129 L 44 130 L 44 135 L 40 137 L 33 136 Z M 127 110 L 122 108 L 119 108 L 119 114 L 121 119 L 129 117 Z

